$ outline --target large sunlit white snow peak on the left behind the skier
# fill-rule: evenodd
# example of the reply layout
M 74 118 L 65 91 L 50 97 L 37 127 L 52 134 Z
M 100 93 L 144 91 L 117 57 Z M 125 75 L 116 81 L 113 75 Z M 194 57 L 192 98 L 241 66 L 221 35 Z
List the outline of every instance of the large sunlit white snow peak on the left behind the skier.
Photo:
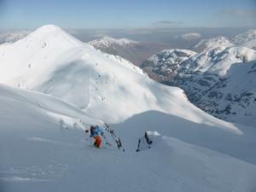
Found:
M 196 122 L 216 121 L 205 113 L 202 117 L 183 90 L 155 83 L 131 63 L 102 54 L 56 26 L 2 45 L 0 55 L 2 84 L 57 96 L 98 119 L 119 122 L 159 110 Z

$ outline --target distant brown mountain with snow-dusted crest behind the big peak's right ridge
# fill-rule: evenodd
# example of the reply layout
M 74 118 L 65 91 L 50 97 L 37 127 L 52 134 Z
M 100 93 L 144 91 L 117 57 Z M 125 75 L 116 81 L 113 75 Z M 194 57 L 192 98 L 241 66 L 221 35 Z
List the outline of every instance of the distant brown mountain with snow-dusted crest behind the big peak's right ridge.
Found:
M 137 66 L 140 66 L 149 56 L 167 48 L 162 44 L 133 41 L 127 38 L 116 39 L 110 37 L 99 38 L 90 41 L 88 44 L 104 53 L 119 55 Z

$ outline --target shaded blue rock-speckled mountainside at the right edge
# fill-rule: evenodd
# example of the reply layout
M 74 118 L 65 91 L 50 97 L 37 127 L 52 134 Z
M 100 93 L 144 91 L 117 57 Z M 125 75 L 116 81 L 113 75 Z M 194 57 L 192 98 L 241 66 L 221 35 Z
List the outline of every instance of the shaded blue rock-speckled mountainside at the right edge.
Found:
M 236 63 L 211 89 L 202 93 L 201 108 L 220 119 L 255 126 L 256 61 Z

